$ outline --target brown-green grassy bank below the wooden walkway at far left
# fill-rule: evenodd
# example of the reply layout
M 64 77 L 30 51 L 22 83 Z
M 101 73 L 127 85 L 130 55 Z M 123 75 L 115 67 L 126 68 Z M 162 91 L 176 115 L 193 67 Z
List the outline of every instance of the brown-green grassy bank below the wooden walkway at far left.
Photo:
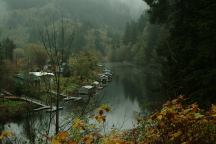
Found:
M 32 105 L 21 100 L 1 100 L 0 123 L 22 119 L 26 113 L 30 112 L 36 107 L 36 105 Z

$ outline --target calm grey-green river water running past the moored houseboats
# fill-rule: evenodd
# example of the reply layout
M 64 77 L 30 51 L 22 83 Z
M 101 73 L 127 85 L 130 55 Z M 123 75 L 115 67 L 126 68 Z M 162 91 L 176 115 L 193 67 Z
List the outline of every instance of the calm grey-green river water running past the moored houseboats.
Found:
M 107 67 L 114 73 L 113 80 L 93 100 L 61 104 L 64 107 L 60 111 L 62 130 L 70 127 L 74 116 L 94 111 L 101 104 L 108 104 L 112 109 L 107 114 L 107 129 L 113 126 L 129 129 L 135 126 L 138 114 L 152 113 L 164 102 L 164 98 L 157 94 L 158 84 L 151 72 L 128 64 L 108 64 Z M 50 117 L 54 119 L 54 114 L 33 112 L 21 121 L 3 124 L 1 129 L 12 131 L 19 139 L 34 141 L 36 134 L 49 128 Z M 54 120 L 50 129 L 54 132 Z

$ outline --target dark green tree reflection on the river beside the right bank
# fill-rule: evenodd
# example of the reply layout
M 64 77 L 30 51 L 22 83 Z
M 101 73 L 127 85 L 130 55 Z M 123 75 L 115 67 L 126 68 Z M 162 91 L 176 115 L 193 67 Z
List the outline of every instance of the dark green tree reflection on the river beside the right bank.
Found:
M 119 69 L 125 95 L 131 101 L 137 100 L 142 110 L 155 111 L 166 100 L 159 92 L 159 79 L 155 70 L 126 66 Z

